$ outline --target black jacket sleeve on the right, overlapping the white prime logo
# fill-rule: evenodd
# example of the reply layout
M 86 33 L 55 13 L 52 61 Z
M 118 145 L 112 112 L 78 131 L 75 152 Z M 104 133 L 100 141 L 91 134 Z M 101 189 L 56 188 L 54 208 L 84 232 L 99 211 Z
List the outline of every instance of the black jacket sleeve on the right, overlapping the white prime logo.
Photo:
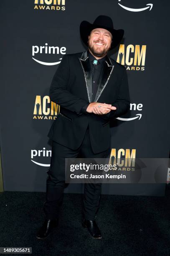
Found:
M 124 68 L 124 73 L 120 82 L 117 100 L 112 105 L 117 109 L 111 110 L 110 113 L 107 114 L 109 119 L 124 115 L 129 110 L 130 99 L 126 68 Z

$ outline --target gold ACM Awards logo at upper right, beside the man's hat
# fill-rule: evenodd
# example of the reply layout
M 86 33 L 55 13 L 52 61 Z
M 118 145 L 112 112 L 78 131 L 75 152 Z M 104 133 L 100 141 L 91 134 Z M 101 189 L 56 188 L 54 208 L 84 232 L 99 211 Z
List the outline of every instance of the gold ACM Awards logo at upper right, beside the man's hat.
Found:
M 117 62 L 127 67 L 127 70 L 145 70 L 145 58 L 146 45 L 120 44 Z

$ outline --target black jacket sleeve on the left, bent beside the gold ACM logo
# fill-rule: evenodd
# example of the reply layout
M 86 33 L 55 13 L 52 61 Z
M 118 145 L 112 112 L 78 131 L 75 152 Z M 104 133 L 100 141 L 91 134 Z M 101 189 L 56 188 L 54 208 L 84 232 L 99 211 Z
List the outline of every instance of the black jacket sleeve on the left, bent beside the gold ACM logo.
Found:
M 74 96 L 67 90 L 70 76 L 69 57 L 64 55 L 61 63 L 54 74 L 50 87 L 50 99 L 63 108 L 81 113 L 81 109 L 88 103 L 79 97 Z

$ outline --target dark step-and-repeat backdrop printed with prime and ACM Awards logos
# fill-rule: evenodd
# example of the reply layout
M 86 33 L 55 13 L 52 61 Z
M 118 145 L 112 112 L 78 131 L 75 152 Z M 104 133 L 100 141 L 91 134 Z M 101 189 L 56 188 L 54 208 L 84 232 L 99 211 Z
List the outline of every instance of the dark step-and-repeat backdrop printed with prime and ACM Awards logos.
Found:
M 127 69 L 129 113 L 112 120 L 116 157 L 169 156 L 168 0 L 1 0 L 0 147 L 5 191 L 46 191 L 51 141 L 59 113 L 49 87 L 64 54 L 86 49 L 82 20 L 108 15 L 124 29 L 109 55 Z M 114 75 L 114 72 L 113 74 Z M 81 86 L 81 84 L 80 84 Z M 58 134 L 59 136 L 59 134 Z M 82 192 L 70 184 L 65 192 Z M 103 184 L 104 194 L 164 195 L 165 184 Z

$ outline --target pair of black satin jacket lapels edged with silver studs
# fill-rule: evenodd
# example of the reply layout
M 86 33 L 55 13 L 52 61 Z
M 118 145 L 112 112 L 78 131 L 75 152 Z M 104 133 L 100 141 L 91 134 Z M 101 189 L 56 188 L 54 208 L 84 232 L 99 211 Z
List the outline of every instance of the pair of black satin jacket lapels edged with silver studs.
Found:
M 79 61 L 84 72 L 88 99 L 89 99 L 89 102 L 92 102 L 91 70 L 90 70 L 90 63 L 88 58 L 89 56 L 87 54 L 87 51 L 84 51 L 81 55 L 81 58 L 79 58 Z M 109 81 L 109 78 L 112 74 L 113 69 L 114 69 L 114 65 L 112 64 L 112 61 L 110 60 L 110 58 L 107 56 L 106 60 L 104 61 L 104 68 L 103 68 L 102 76 L 99 82 L 99 87 L 96 92 L 94 102 L 97 102 L 99 100 L 101 93 L 103 92 L 104 88 L 106 87 Z

